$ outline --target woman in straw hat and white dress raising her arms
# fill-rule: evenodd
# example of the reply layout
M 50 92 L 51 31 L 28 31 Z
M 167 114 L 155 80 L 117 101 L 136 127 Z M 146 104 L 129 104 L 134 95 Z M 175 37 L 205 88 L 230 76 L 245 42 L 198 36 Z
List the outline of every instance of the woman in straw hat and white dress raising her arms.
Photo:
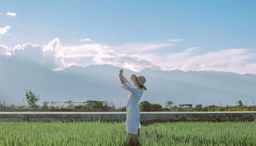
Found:
M 128 102 L 126 106 L 126 132 L 130 135 L 130 141 L 133 145 L 138 143 L 138 129 L 141 128 L 140 125 L 140 108 L 138 103 L 142 96 L 143 90 L 146 90 L 144 83 L 146 79 L 143 76 L 136 77 L 136 75 L 131 76 L 134 86 L 128 82 L 123 76 L 123 70 L 119 71 L 119 78 L 122 83 L 122 88 L 129 91 Z

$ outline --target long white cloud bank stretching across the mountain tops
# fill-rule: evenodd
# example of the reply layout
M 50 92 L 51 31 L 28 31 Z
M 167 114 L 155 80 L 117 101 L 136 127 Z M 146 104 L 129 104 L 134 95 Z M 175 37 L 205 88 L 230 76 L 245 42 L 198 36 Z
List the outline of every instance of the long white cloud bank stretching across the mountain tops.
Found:
M 163 48 L 172 48 L 176 39 L 166 42 L 136 43 L 130 42 L 118 46 L 89 43 L 62 46 L 54 38 L 44 46 L 25 43 L 13 48 L 0 45 L 0 55 L 9 55 L 36 62 L 53 70 L 61 70 L 71 65 L 88 66 L 92 64 L 111 64 L 133 71 L 144 68 L 174 70 L 214 70 L 230 71 L 238 74 L 256 74 L 255 52 L 248 48 L 230 48 L 227 50 L 198 54 L 198 47 L 190 47 L 180 52 L 156 54 Z

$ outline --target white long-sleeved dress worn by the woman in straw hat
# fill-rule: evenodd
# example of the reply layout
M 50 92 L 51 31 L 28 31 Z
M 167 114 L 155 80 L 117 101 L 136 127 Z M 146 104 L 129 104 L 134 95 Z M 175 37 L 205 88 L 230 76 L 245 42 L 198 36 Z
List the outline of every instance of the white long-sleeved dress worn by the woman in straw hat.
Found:
M 143 90 L 134 88 L 130 82 L 123 83 L 122 88 L 129 91 L 128 102 L 126 107 L 126 129 L 139 129 L 140 125 L 140 108 L 138 103 L 141 99 Z

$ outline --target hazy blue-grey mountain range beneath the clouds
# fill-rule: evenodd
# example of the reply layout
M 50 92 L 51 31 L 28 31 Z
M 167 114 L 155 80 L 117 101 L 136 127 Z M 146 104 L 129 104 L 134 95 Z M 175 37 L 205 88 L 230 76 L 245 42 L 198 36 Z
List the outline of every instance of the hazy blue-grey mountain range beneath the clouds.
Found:
M 242 100 L 256 101 L 256 75 L 239 75 L 218 71 L 162 71 L 143 69 L 134 72 L 112 65 L 70 66 L 53 71 L 36 63 L 0 56 L 0 103 L 22 104 L 25 90 L 40 95 L 40 102 L 87 100 L 113 101 L 125 105 L 128 93 L 121 88 L 119 70 L 130 80 L 131 75 L 144 76 L 147 90 L 141 101 L 178 104 L 235 105 Z M 25 99 L 26 100 L 26 99 Z

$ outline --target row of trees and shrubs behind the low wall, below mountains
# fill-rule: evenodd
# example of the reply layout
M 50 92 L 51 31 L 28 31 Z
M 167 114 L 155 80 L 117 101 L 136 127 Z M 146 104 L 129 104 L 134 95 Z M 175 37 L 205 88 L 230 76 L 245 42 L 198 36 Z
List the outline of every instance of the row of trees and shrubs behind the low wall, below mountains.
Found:
M 36 104 L 39 100 L 39 95 L 34 94 L 31 90 L 26 90 L 25 92 L 26 100 L 28 103 L 28 107 L 33 109 L 102 109 L 102 111 L 126 111 L 126 106 L 116 108 L 113 102 L 109 103 L 107 101 L 102 102 L 88 102 L 83 105 L 73 105 L 71 101 L 65 102 L 69 105 L 67 107 L 55 107 L 49 106 L 48 102 L 43 102 L 43 105 L 40 107 Z M 19 106 L 16 108 L 13 104 L 10 106 L 4 106 L 0 103 L 0 109 L 20 109 L 25 108 L 24 106 Z M 202 106 L 202 104 L 196 104 L 195 107 L 181 107 L 174 105 L 174 102 L 167 101 L 165 103 L 165 107 L 163 108 L 160 104 L 152 104 L 148 101 L 142 101 L 139 103 L 140 111 L 143 112 L 155 112 L 155 111 L 254 111 L 256 110 L 255 106 L 247 106 L 244 105 L 242 101 L 238 101 L 238 105 L 236 106 L 217 106 L 217 105 L 209 105 Z

